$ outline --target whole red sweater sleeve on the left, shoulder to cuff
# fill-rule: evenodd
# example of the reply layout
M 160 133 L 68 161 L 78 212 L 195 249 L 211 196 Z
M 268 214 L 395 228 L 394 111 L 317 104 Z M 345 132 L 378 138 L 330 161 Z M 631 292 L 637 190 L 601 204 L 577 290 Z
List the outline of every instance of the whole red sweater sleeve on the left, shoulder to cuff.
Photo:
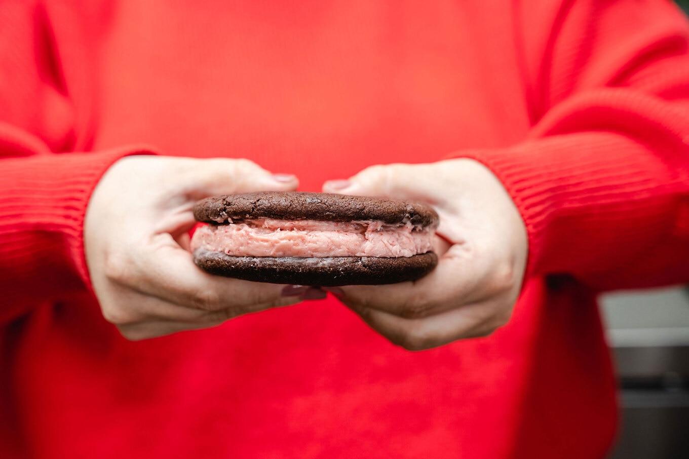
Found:
M 82 232 L 90 194 L 112 163 L 149 152 L 79 152 L 79 107 L 49 32 L 38 3 L 0 8 L 0 323 L 86 291 Z

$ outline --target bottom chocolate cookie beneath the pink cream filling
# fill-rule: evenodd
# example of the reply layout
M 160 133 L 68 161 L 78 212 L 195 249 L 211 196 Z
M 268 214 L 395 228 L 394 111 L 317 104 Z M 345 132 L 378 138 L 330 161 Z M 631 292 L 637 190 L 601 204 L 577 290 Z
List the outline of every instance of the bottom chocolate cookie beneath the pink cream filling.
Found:
M 409 257 L 333 256 L 328 258 L 229 256 L 197 249 L 196 265 L 211 274 L 274 284 L 380 285 L 415 281 L 433 270 L 433 252 Z

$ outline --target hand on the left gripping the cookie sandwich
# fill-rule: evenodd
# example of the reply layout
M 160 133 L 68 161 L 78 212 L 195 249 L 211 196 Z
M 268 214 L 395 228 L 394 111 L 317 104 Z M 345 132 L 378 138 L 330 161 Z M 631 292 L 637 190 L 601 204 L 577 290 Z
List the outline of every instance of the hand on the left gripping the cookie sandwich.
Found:
M 89 201 L 85 256 L 103 316 L 130 340 L 212 327 L 315 298 L 306 287 L 212 276 L 194 265 L 187 232 L 206 196 L 294 190 L 293 175 L 245 159 L 128 156 L 110 167 Z

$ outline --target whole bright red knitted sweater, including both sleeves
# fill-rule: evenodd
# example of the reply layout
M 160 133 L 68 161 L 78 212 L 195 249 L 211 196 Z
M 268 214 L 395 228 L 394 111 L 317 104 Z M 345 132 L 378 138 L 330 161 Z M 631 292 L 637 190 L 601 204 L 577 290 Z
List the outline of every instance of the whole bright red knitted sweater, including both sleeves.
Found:
M 42 3 L 0 8 L 0 457 L 604 456 L 595 296 L 689 281 L 689 28 L 669 1 Z M 128 342 L 81 233 L 140 143 L 303 190 L 479 159 L 528 228 L 513 319 L 412 353 L 327 298 Z

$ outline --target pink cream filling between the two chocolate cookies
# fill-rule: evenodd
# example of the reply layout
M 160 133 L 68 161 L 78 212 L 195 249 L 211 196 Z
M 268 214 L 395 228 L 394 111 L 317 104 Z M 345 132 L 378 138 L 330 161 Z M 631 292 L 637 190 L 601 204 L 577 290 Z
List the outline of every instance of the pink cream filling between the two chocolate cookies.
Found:
M 206 225 L 192 238 L 192 252 L 205 249 L 231 256 L 413 256 L 431 250 L 435 229 L 411 223 L 333 222 L 256 218 Z

